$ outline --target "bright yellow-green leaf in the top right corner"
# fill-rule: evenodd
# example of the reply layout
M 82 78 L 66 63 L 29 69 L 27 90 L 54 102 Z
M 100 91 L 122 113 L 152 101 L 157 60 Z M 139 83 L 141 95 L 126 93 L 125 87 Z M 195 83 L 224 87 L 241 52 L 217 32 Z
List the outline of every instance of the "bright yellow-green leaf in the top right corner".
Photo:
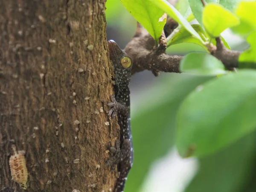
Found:
M 236 9 L 240 24 L 232 28 L 233 32 L 248 35 L 256 30 L 256 2 L 241 2 Z

